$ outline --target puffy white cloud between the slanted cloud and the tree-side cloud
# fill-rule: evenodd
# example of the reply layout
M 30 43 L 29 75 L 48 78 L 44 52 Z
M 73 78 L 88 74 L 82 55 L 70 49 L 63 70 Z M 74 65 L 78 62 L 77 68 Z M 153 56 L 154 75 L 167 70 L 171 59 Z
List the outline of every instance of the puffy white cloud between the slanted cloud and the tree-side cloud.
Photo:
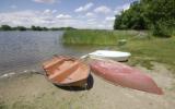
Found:
M 101 5 L 101 7 L 98 7 L 98 8 L 96 8 L 95 10 L 94 10 L 94 12 L 96 12 L 96 13 L 104 13 L 104 14 L 107 14 L 107 13 L 109 13 L 112 10 L 108 8 L 108 7 L 105 7 L 105 5 Z

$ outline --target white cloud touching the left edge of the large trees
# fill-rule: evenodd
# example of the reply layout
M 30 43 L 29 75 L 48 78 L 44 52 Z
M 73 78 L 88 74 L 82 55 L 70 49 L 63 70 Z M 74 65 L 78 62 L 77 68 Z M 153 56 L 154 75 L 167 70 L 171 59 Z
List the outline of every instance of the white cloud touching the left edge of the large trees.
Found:
M 120 14 L 121 11 L 126 11 L 130 8 L 130 3 L 126 3 L 124 5 L 119 5 L 115 9 L 114 13 L 115 14 Z

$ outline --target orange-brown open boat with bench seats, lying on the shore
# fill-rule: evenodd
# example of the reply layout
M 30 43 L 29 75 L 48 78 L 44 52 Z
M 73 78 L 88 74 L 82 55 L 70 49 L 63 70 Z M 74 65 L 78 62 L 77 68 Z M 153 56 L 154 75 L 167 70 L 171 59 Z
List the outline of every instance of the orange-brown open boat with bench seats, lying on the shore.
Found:
M 79 59 L 71 57 L 54 57 L 43 63 L 46 77 L 59 86 L 84 86 L 90 68 Z

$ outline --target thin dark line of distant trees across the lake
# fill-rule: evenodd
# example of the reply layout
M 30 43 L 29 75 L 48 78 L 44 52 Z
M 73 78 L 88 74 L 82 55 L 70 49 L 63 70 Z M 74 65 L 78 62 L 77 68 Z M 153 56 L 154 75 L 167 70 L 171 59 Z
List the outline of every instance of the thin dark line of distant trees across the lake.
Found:
M 73 27 L 40 27 L 40 26 L 34 26 L 31 27 L 24 27 L 24 26 L 16 26 L 11 27 L 10 25 L 1 25 L 0 31 L 66 31 L 66 29 L 75 29 Z

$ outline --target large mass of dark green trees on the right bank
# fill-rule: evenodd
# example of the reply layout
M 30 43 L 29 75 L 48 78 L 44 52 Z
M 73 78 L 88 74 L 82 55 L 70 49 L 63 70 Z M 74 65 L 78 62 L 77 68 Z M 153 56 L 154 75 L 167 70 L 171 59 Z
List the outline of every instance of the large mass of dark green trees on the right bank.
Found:
M 116 15 L 114 29 L 151 29 L 170 37 L 175 31 L 175 0 L 137 0 Z

